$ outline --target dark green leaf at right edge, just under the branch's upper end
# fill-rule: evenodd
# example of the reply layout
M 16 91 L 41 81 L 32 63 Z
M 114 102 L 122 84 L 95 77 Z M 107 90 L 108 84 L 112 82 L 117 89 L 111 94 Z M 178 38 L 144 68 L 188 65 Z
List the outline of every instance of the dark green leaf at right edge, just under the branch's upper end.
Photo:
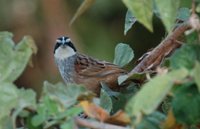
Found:
M 182 67 L 193 69 L 195 61 L 200 61 L 200 45 L 185 44 L 171 56 L 170 67 L 172 69 L 179 69 Z

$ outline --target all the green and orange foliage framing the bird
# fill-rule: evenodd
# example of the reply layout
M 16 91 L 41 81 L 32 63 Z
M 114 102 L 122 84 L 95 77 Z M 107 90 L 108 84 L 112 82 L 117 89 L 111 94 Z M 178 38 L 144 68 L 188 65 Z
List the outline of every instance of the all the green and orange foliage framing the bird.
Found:
M 181 6 L 185 0 L 122 1 L 128 8 L 125 34 L 135 23 L 134 18 L 152 30 L 152 17 L 155 12 L 168 32 L 181 24 L 174 24 L 177 18 L 183 22 L 190 18 L 189 9 Z M 93 0 L 85 1 L 80 7 L 84 11 L 87 2 L 91 4 Z M 196 4 L 198 5 L 198 1 Z M 1 32 L 0 129 L 70 129 L 75 126 L 74 117 L 83 112 L 90 119 L 102 123 L 136 129 L 199 128 L 200 44 L 199 32 L 192 31 L 185 35 L 186 43 L 168 60 L 169 66 L 163 64 L 167 72 L 163 68 L 154 71 L 156 74 L 149 72 L 149 79 L 145 82 L 131 83 L 121 91 L 112 91 L 102 82 L 99 98 L 77 84 L 66 86 L 45 81 L 40 97 L 31 89 L 17 88 L 14 81 L 30 63 L 31 56 L 37 49 L 29 36 L 15 44 L 11 33 Z M 115 64 L 123 67 L 133 57 L 133 50 L 128 45 L 120 43 L 116 46 Z M 143 79 L 143 75 L 145 74 L 138 75 L 137 79 Z M 135 77 L 136 75 L 133 75 L 132 79 Z M 121 87 L 127 79 L 127 75 L 118 78 Z M 138 85 L 141 86 L 140 89 Z M 36 97 L 39 98 L 38 101 Z

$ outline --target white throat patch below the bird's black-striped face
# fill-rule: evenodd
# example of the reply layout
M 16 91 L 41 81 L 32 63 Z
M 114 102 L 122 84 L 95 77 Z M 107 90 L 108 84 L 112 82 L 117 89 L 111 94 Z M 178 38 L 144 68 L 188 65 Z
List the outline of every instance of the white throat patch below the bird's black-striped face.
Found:
M 54 56 L 57 59 L 66 59 L 75 54 L 76 54 L 76 52 L 71 47 L 69 47 L 69 46 L 62 47 L 61 46 L 56 49 Z

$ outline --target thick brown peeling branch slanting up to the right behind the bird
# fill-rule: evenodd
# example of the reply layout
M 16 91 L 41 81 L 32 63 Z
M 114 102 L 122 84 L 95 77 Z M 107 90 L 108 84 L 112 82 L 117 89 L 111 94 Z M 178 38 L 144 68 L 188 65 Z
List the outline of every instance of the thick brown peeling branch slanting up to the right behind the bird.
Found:
M 151 53 L 146 56 L 129 74 L 128 76 L 133 75 L 134 73 L 144 72 L 153 66 L 155 62 L 159 62 L 161 58 L 166 57 L 176 48 L 180 47 L 181 44 L 176 41 L 178 38 L 186 31 L 191 28 L 189 22 L 182 23 L 180 26 L 174 29 L 174 31 L 169 34 L 156 48 L 154 48 Z M 155 64 L 156 65 L 156 64 Z M 154 66 L 155 66 L 154 65 Z M 158 65 L 158 64 L 157 64 Z

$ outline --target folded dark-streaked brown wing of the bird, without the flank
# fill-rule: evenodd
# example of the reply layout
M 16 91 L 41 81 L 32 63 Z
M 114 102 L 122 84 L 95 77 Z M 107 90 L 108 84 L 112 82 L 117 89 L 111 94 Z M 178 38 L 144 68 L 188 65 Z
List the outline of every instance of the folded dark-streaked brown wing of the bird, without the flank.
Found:
M 112 74 L 123 74 L 125 70 L 117 65 L 105 61 L 99 61 L 91 57 L 77 54 L 76 72 L 84 77 L 105 77 Z

